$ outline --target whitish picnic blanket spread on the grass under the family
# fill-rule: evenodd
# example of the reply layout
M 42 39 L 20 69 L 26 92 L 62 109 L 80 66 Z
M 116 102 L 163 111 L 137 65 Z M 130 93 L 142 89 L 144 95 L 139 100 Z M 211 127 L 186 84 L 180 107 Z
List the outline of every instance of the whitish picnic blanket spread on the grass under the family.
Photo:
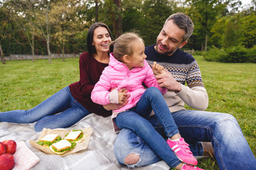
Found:
M 86 150 L 75 154 L 60 157 L 55 154 L 46 154 L 33 147 L 29 140 L 38 139 L 40 132 L 35 132 L 34 123 L 17 124 L 0 122 L 0 141 L 14 140 L 25 142 L 28 149 L 36 154 L 40 161 L 32 167 L 35 170 L 41 169 L 85 169 L 85 170 L 117 170 L 128 169 L 122 166 L 114 157 L 113 147 L 117 134 L 113 132 L 110 117 L 103 118 L 95 114 L 90 114 L 83 118 L 68 130 L 92 128 L 90 143 Z M 134 170 L 169 170 L 169 166 L 164 162 L 157 162 L 149 166 L 137 167 Z

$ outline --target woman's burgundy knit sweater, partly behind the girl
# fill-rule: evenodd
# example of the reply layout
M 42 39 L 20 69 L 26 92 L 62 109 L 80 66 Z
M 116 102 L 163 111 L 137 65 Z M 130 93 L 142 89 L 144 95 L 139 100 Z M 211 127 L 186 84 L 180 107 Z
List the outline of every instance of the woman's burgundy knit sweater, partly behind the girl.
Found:
M 105 110 L 101 105 L 93 103 L 90 96 L 92 89 L 100 79 L 103 69 L 107 66 L 108 64 L 95 60 L 95 57 L 88 52 L 83 52 L 79 60 L 80 81 L 69 86 L 70 92 L 76 101 L 91 113 L 102 115 L 103 117 L 111 115 L 112 112 Z

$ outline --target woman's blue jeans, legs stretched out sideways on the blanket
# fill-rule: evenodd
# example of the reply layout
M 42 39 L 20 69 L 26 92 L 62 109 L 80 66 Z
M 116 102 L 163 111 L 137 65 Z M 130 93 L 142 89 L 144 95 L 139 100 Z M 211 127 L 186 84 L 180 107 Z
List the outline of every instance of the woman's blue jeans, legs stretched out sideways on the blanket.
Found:
M 36 132 L 43 128 L 68 128 L 90 114 L 78 101 L 75 101 L 66 86 L 46 101 L 31 110 L 7 111 L 0 113 L 0 122 L 34 123 Z

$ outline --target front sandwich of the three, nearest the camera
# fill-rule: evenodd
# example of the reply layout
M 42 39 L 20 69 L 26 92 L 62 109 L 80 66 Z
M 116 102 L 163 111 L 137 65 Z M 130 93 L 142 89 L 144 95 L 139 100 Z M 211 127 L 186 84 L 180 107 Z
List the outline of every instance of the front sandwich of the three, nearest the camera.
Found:
M 59 142 L 50 145 L 51 152 L 55 154 L 64 154 L 75 147 L 75 142 L 70 142 L 68 140 L 60 140 Z

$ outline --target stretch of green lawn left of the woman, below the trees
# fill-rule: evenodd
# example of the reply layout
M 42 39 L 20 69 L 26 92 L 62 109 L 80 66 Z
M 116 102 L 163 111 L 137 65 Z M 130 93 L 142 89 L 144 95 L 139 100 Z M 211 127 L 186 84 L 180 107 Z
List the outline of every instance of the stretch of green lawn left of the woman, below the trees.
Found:
M 0 112 L 29 109 L 78 81 L 79 58 L 6 61 L 0 64 Z

